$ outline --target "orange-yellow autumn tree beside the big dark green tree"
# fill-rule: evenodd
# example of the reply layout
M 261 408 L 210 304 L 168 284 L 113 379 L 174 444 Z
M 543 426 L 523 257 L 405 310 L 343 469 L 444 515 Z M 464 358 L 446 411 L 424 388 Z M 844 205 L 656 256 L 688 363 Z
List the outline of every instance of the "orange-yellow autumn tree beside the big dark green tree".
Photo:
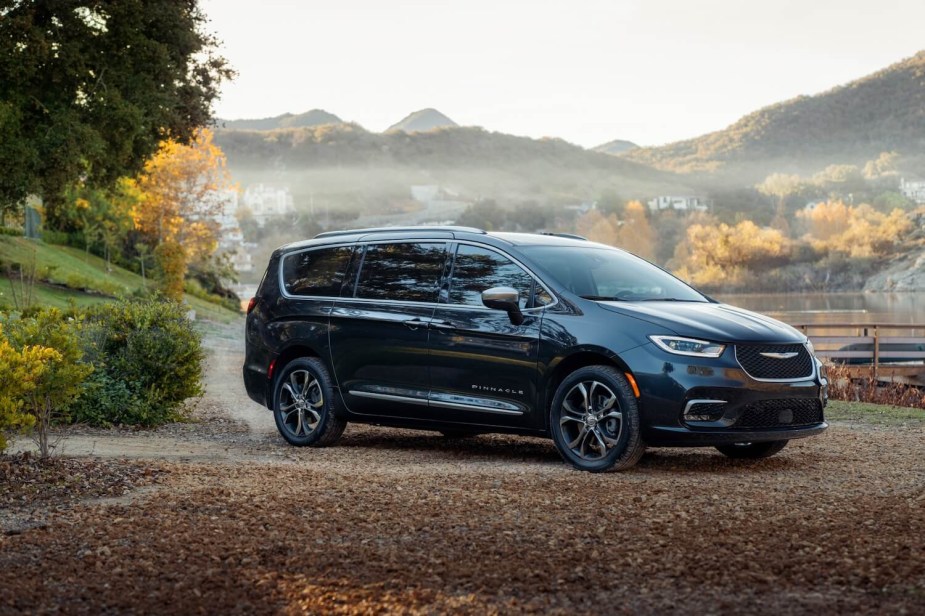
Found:
M 200 130 L 190 145 L 167 141 L 145 164 L 132 209 L 135 226 L 149 238 L 165 292 L 181 299 L 191 262 L 207 262 L 218 247 L 222 192 L 232 189 L 225 155 Z

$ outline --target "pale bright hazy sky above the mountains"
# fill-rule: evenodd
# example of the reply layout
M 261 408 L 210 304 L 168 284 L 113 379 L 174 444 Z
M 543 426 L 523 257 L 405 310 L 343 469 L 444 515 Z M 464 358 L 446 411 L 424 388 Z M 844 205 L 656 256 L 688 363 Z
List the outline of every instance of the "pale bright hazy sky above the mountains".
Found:
M 200 0 L 223 119 L 426 107 L 584 147 L 660 145 L 925 49 L 921 0 Z

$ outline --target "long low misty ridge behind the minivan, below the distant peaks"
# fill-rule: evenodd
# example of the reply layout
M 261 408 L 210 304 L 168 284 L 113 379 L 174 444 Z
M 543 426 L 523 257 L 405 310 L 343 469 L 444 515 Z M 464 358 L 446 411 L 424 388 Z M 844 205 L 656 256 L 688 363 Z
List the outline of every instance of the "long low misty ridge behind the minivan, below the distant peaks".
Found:
M 297 209 L 323 195 L 358 195 L 368 209 L 409 198 L 415 184 L 451 187 L 463 198 L 517 203 L 685 194 L 674 174 L 591 152 L 561 139 L 529 139 L 481 128 L 372 133 L 355 124 L 268 132 L 217 130 L 236 181 L 288 186 Z M 364 196 L 365 195 L 365 196 Z M 343 202 L 331 197 L 329 202 Z M 378 203 L 378 207 L 375 204 Z M 337 205 L 332 205 L 337 207 Z

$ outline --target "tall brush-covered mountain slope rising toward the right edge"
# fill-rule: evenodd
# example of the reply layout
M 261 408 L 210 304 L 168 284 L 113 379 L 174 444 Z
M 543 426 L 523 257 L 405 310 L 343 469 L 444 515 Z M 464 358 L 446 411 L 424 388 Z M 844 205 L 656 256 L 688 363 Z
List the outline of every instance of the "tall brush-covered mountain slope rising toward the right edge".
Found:
M 815 96 L 751 113 L 725 130 L 622 154 L 659 169 L 758 180 L 862 165 L 881 152 L 925 154 L 925 51 Z

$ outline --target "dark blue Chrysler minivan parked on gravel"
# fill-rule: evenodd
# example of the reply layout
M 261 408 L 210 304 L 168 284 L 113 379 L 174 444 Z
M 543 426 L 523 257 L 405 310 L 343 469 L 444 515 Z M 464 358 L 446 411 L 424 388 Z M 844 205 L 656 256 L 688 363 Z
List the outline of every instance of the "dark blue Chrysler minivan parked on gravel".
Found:
M 347 422 L 550 437 L 587 471 L 646 446 L 763 458 L 819 434 L 807 338 L 575 236 L 465 227 L 322 233 L 277 249 L 244 382 L 293 445 Z

